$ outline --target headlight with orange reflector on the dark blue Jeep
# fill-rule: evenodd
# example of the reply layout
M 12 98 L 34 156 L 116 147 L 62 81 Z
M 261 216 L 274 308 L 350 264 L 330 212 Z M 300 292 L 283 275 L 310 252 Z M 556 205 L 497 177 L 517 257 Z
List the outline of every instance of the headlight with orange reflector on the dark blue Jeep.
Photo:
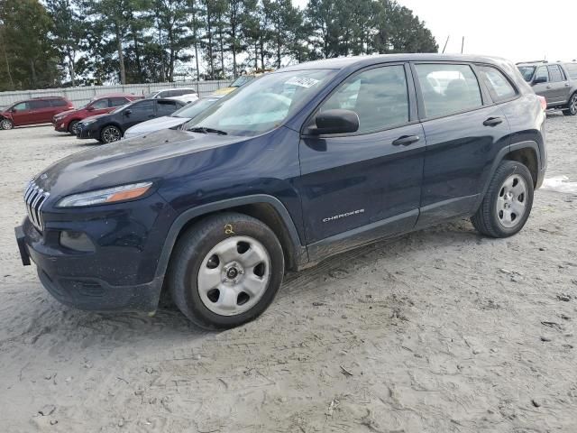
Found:
M 96 189 L 96 191 L 82 192 L 62 198 L 57 206 L 81 207 L 132 200 L 133 198 L 142 197 L 151 189 L 151 186 L 152 182 L 139 182 L 114 188 Z

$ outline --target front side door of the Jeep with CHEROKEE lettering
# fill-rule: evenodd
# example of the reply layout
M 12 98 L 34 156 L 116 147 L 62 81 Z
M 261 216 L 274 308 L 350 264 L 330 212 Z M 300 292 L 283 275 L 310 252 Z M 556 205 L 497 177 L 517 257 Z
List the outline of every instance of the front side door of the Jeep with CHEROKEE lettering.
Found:
M 398 64 L 346 78 L 317 113 L 354 111 L 359 130 L 302 137 L 298 184 L 313 260 L 316 253 L 407 231 L 417 221 L 425 140 L 411 113 L 407 72 Z

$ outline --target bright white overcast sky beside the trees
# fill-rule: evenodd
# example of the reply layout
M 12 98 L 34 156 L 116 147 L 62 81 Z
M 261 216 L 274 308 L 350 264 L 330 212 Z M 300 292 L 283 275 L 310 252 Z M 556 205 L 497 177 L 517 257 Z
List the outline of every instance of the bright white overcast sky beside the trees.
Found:
M 513 61 L 577 59 L 577 0 L 398 0 L 433 32 L 439 50 Z M 304 7 L 307 0 L 293 0 Z

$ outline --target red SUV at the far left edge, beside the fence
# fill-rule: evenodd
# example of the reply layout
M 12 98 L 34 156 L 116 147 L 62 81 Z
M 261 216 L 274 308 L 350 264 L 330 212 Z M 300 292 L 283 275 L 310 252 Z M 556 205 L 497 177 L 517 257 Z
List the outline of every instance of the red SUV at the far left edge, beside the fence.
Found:
M 27 124 L 48 124 L 52 117 L 74 106 L 66 97 L 34 97 L 19 101 L 0 112 L 0 129 Z

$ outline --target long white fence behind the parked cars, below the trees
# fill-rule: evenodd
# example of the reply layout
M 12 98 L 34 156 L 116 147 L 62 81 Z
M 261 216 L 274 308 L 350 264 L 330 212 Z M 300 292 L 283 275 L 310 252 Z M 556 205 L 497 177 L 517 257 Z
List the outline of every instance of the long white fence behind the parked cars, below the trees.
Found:
M 226 88 L 231 81 L 179 81 L 178 83 L 127 84 L 124 86 L 90 86 L 79 88 L 50 88 L 45 90 L 23 90 L 18 92 L 0 92 L 0 109 L 14 102 L 32 97 L 67 97 L 74 106 L 84 106 L 98 95 L 126 93 L 147 95 L 163 88 L 194 88 L 200 97 L 206 97 L 219 88 Z

